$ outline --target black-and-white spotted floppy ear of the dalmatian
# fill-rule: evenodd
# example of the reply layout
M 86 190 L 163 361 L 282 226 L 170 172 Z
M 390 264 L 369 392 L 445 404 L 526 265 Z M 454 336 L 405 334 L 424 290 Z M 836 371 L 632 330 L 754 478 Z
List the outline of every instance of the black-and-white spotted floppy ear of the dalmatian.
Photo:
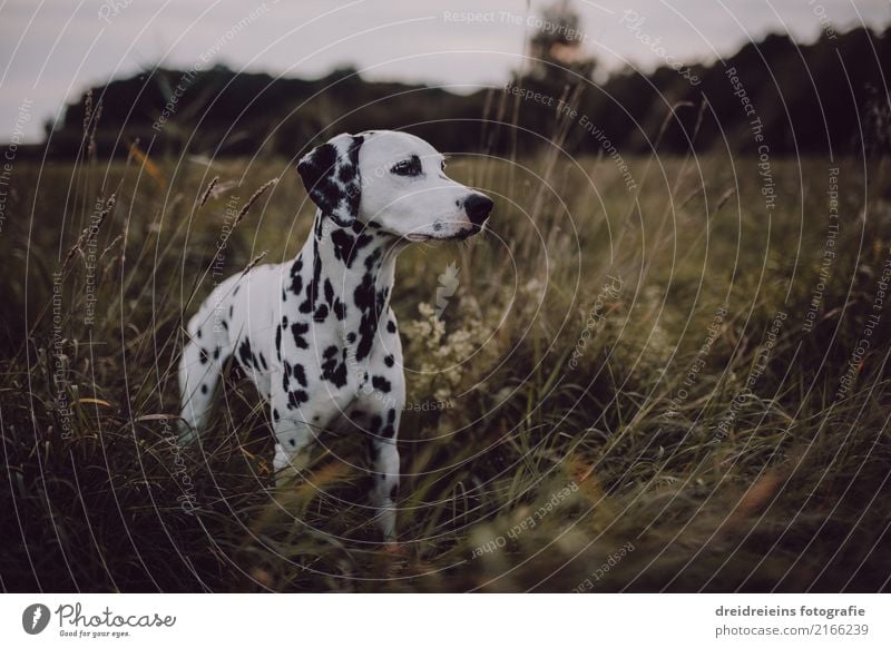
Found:
M 359 216 L 362 199 L 359 148 L 363 140 L 361 135 L 343 132 L 297 163 L 297 173 L 312 202 L 341 227 L 350 227 Z

